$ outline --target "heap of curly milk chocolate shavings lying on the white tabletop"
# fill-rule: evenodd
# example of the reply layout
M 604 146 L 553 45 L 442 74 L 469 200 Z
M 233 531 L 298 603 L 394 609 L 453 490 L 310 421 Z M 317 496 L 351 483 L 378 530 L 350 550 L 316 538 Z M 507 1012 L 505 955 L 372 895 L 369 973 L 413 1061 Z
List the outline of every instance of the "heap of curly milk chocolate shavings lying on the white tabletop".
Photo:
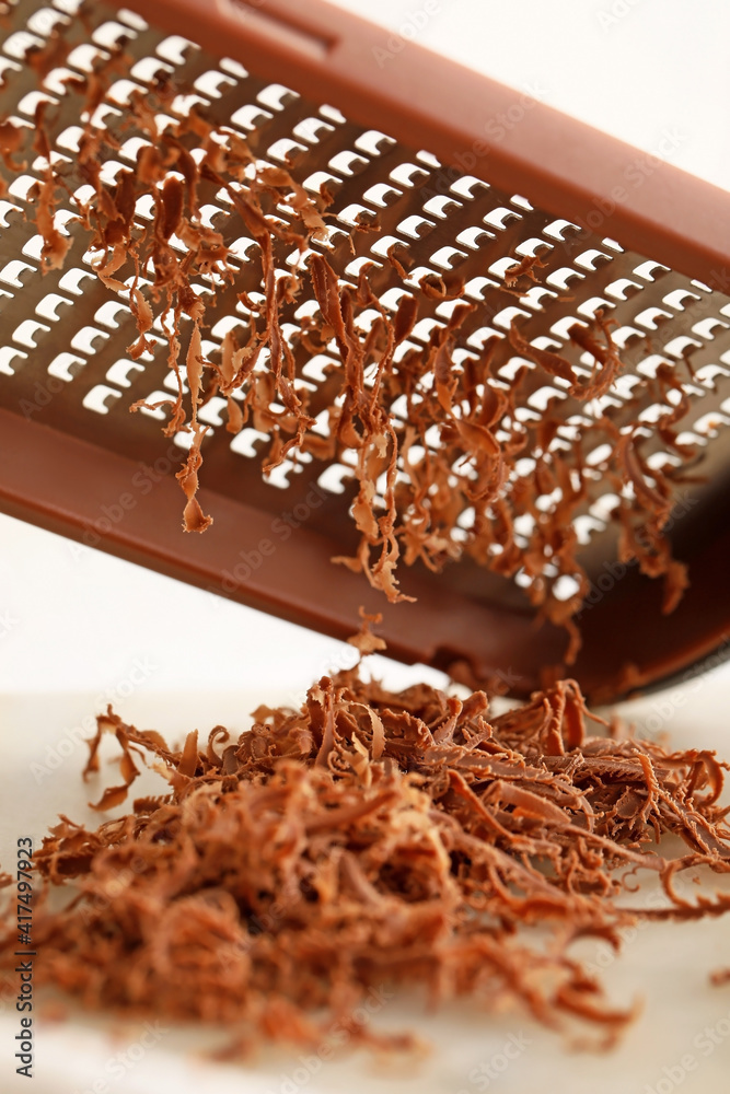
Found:
M 587 714 L 571 680 L 489 718 L 483 693 L 396 695 L 357 670 L 321 679 L 297 712 L 259 707 L 237 741 L 219 725 L 175 749 L 109 708 L 84 777 L 108 733 L 121 782 L 93 807 L 126 800 L 140 759 L 169 790 L 95 831 L 61 816 L 35 852 L 40 982 L 92 1009 L 222 1024 L 232 1052 L 262 1034 L 314 1044 L 333 1020 L 354 1044 L 410 1047 L 352 1019 L 394 985 L 519 1006 L 557 1031 L 577 1022 L 612 1044 L 633 1012 L 611 1005 L 571 943 L 618 948 L 636 917 L 730 908 L 730 894 L 688 903 L 674 884 L 730 870 L 728 765 L 589 736 Z M 685 853 L 660 853 L 667 834 Z M 619 906 L 642 870 L 665 908 Z M 69 882 L 72 900 L 51 910 Z M 5 971 L 15 945 L 7 927 Z

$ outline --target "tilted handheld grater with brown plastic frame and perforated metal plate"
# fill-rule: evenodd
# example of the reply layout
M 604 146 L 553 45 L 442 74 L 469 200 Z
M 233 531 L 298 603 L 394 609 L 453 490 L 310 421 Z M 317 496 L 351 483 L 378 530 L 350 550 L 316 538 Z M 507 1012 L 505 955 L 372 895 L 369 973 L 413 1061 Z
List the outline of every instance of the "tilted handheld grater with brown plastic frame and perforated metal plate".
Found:
M 390 654 L 493 691 L 524 696 L 569 671 L 594 700 L 615 699 L 725 652 L 726 194 L 414 44 L 401 43 L 397 58 L 384 65 L 387 33 L 326 3 L 3 7 L 0 114 L 30 133 L 42 117 L 50 143 L 50 161 L 37 150 L 22 163 L 11 148 L 3 154 L 5 512 L 338 638 L 351 633 L 361 606 L 381 613 L 379 633 Z M 93 269 L 99 254 L 79 221 L 88 177 L 78 164 L 85 120 L 78 88 L 100 70 L 113 72 L 94 103 L 94 124 L 114 141 L 102 156 L 108 187 L 146 143 L 130 102 L 157 101 L 164 86 L 169 124 L 195 113 L 245 140 L 258 164 L 286 170 L 313 198 L 326 196 L 327 230 L 310 241 L 308 254 L 292 255 L 291 246 L 276 252 L 277 269 L 300 275 L 282 331 L 315 435 L 327 438 L 343 369 L 336 338 L 313 352 L 305 337 L 323 323 L 312 276 L 322 268 L 317 258 L 326 258 L 338 290 L 355 292 L 364 277 L 392 319 L 404 298 L 415 301 L 417 322 L 398 346 L 396 376 L 408 354 L 421 360 L 440 345 L 455 310 L 468 305 L 450 339 L 445 383 L 453 379 L 461 393 L 474 373 L 475 398 L 484 399 L 487 387 L 495 398 L 512 398 L 509 421 L 497 419 L 495 435 L 505 444 L 517 437 L 522 446 L 491 502 L 466 503 L 473 466 L 454 459 L 441 493 L 453 491 L 455 515 L 441 529 L 441 557 L 399 566 L 406 603 L 389 603 L 362 573 L 332 561 L 358 548 L 351 446 L 338 444 L 322 458 L 316 445 L 302 445 L 270 466 L 270 440 L 251 423 L 227 428 L 231 410 L 215 391 L 204 392 L 198 410 L 206 432 L 197 494 L 213 524 L 201 535 L 181 529 L 185 499 L 175 476 L 192 434 L 161 432 L 159 404 L 175 387 L 164 325 L 157 315 L 144 352 L 130 354 L 138 336 L 135 272 L 116 270 L 120 291 L 103 283 Z M 186 140 L 196 151 L 195 133 Z M 49 162 L 67 187 L 54 209 L 65 257 L 44 270 L 36 216 Z M 200 208 L 231 248 L 231 283 L 215 272 L 199 279 L 213 299 L 201 352 L 220 362 L 227 336 L 243 339 L 251 327 L 262 268 L 255 241 L 217 185 L 201 186 Z M 270 216 L 286 223 L 288 212 L 276 207 Z M 137 201 L 135 223 L 151 217 L 149 202 Z M 134 283 L 149 283 L 144 274 Z M 367 312 L 358 316 L 363 339 Z M 618 363 L 605 389 L 587 399 L 546 370 L 556 358 L 569 362 L 582 392 L 606 362 Z M 418 398 L 432 398 L 432 368 L 419 385 Z M 132 404 L 146 406 L 129 414 Z M 273 404 L 271 414 L 281 410 Z M 397 394 L 387 410 L 403 449 L 408 399 Z M 448 449 L 466 403 L 450 415 L 451 433 L 431 430 L 415 463 L 401 453 L 397 479 L 406 497 L 413 498 L 418 459 Z M 638 486 L 618 481 L 612 463 L 629 449 L 640 453 Z M 551 479 L 558 465 L 563 486 L 537 492 L 537 473 Z M 622 511 L 630 522 L 642 490 L 656 494 L 659 481 L 672 486 L 662 523 L 688 579 L 679 603 L 669 605 L 661 574 L 640 572 L 616 519 Z M 561 617 L 560 604 L 576 601 L 578 586 L 541 529 L 560 511 L 570 484 L 583 493 L 565 522 L 577 542 L 582 608 L 573 616 L 566 607 Z M 379 484 L 375 504 L 382 492 Z M 509 543 L 502 494 L 511 507 Z M 432 517 L 437 501 L 427 498 L 425 505 Z M 542 554 L 532 549 L 536 543 Z M 508 566 L 508 547 L 517 556 L 532 550 L 532 571 Z

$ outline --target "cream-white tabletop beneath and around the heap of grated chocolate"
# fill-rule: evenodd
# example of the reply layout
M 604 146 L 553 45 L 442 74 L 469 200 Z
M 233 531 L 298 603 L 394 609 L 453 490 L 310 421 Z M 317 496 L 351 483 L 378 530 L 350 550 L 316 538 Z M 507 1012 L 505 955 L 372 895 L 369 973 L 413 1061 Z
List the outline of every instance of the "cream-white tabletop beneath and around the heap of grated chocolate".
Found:
M 646 700 L 645 714 L 652 732 L 671 734 L 676 746 L 716 745 L 730 753 L 727 694 L 728 674 L 718 672 L 691 680 L 685 700 L 675 701 L 663 715 L 656 699 Z M 269 691 L 267 698 L 276 701 Z M 232 730 L 247 724 L 245 711 L 260 699 L 256 691 L 216 695 L 190 693 L 184 697 L 147 694 L 119 703 L 125 718 L 154 728 L 171 737 L 193 728 L 206 733 L 216 721 Z M 9 866 L 19 836 L 40 839 L 55 815 L 99 824 L 86 810 L 99 798 L 102 784 L 116 777 L 108 769 L 88 785 L 80 771 L 86 749 L 80 743 L 82 726 L 94 705 L 93 695 L 36 695 L 0 699 L 5 730 L 4 761 L 0 773 L 3 802 L 0 819 L 0 863 Z M 663 724 L 656 722 L 663 717 Z M 53 770 L 51 770 L 53 768 Z M 150 777 L 152 780 L 153 777 Z M 136 793 L 154 792 L 159 782 L 136 784 Z M 139 790 L 137 789 L 139 787 Z M 649 891 L 636 897 L 646 899 Z M 559 1090 L 560 1094 L 670 1094 L 681 1085 L 686 1094 L 726 1094 L 730 1066 L 730 988 L 712 988 L 708 973 L 730 963 L 727 919 L 699 924 L 650 924 L 625 940 L 624 954 L 614 958 L 604 944 L 586 942 L 580 955 L 605 968 L 604 981 L 616 1004 L 641 1000 L 644 1010 L 618 1049 L 607 1056 L 571 1054 L 555 1035 L 519 1013 L 485 1015 L 468 1004 L 425 1013 L 417 1000 L 383 1002 L 373 1017 L 376 1026 L 416 1028 L 431 1043 L 422 1059 L 385 1063 L 366 1054 L 340 1055 L 316 1067 L 312 1052 L 264 1050 L 240 1067 L 206 1062 L 200 1050 L 221 1043 L 220 1031 L 179 1028 L 160 1033 L 142 1049 L 141 1023 L 111 1023 L 77 1016 L 68 1023 L 34 1022 L 34 1094 L 530 1094 Z M 578 955 L 578 954 L 577 954 Z M 28 1090 L 14 1074 L 13 1038 L 18 1029 L 14 1001 L 0 1000 L 0 1090 L 3 1094 Z M 151 1023 L 154 1029 L 157 1019 Z M 705 1031 L 710 1031 L 710 1035 Z M 159 1033 L 160 1031 L 158 1031 Z M 716 1039 L 712 1044 L 708 1036 Z M 512 1040 L 510 1041 L 510 1038 Z M 511 1044 L 515 1059 L 502 1068 L 503 1048 Z M 683 1057 L 692 1067 L 682 1075 Z M 310 1062 L 305 1067 L 300 1057 Z M 312 1063 L 315 1060 L 315 1063 Z M 686 1063 L 686 1060 L 685 1060 Z M 493 1080 L 489 1080 L 491 1069 Z M 665 1070 L 668 1069 L 668 1070 Z M 680 1076 L 681 1082 L 658 1086 Z M 487 1085 L 488 1083 L 488 1085 Z

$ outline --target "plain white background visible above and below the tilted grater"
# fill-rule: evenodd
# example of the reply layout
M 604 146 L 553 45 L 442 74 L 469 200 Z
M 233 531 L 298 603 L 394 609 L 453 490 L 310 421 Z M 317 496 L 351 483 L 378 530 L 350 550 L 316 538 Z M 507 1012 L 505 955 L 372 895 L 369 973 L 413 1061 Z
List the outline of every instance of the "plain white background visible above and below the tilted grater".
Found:
M 339 2 L 404 35 L 425 8 L 424 0 Z M 551 106 L 648 152 L 664 130 L 677 130 L 673 162 L 730 184 L 727 0 L 441 0 L 417 38 L 515 88 L 537 84 Z M 148 671 L 140 693 L 296 690 L 352 655 L 0 516 L 0 691 L 105 695 L 124 690 L 140 661 Z M 394 686 L 404 678 L 399 667 L 381 671 Z

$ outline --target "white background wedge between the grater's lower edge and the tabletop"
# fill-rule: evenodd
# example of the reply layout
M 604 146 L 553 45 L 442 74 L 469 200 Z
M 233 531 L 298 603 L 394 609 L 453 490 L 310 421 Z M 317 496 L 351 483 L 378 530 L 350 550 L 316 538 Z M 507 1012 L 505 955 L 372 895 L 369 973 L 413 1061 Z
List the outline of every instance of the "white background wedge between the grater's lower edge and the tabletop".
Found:
M 255 682 L 300 694 L 357 661 L 345 642 L 2 514 L 0 545 L 0 693 L 115 698 Z M 376 663 L 395 686 L 444 678 L 424 666 Z

